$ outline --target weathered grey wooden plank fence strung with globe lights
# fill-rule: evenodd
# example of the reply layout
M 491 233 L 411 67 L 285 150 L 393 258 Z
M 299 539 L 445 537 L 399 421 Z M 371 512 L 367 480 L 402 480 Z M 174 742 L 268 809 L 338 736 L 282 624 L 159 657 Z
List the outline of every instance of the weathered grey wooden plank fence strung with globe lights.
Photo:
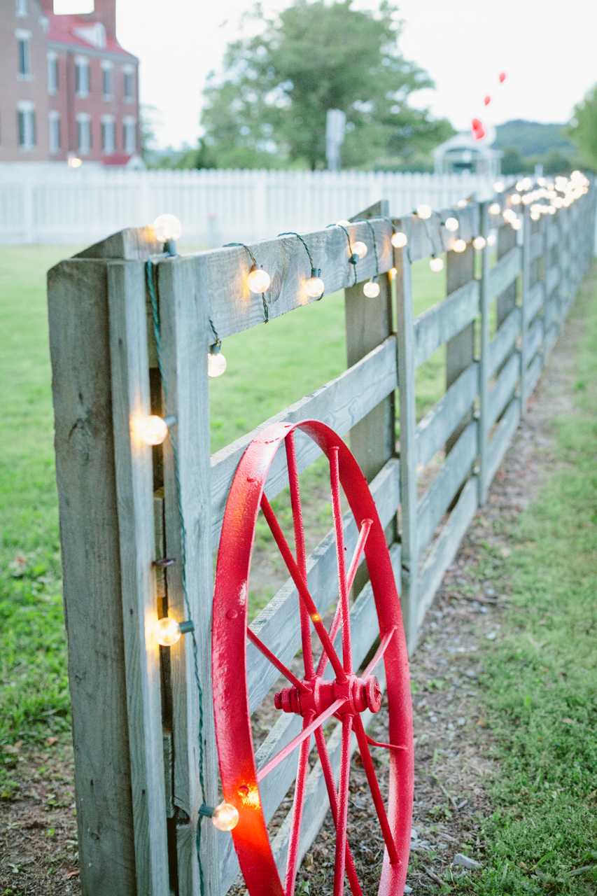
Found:
M 411 648 L 442 575 L 485 500 L 590 263 L 594 198 L 591 187 L 569 207 L 537 221 L 527 208 L 518 238 L 501 216 L 489 217 L 488 203 L 470 202 L 429 220 L 394 220 L 408 237 L 405 248 L 392 246 L 387 206 L 378 202 L 356 216 L 367 218 L 370 226 L 350 226 L 351 241 L 370 248 L 370 227 L 375 231 L 382 273 L 376 298 L 365 297 L 362 289 L 362 281 L 376 274 L 373 251 L 359 261 L 359 284 L 352 285 L 354 269 L 342 229 L 305 237 L 322 269 L 325 293 L 345 289 L 348 369 L 273 420 L 317 418 L 342 434 L 350 431 L 350 447 L 392 541 Z M 456 234 L 443 226 L 448 216 L 459 220 Z M 487 235 L 490 224 L 499 225 L 497 263 L 490 267 L 493 250 L 486 247 L 476 276 L 472 238 Z M 465 251 L 452 250 L 454 238 L 466 241 Z M 270 318 L 312 300 L 303 287 L 309 276 L 307 254 L 296 237 L 251 249 L 272 277 L 264 296 Z M 210 896 L 223 896 L 238 872 L 229 834 L 203 819 L 200 873 L 195 838 L 200 806 L 218 800 L 210 680 L 212 551 L 238 460 L 258 430 L 210 462 L 207 352 L 212 324 L 221 339 L 256 326 L 264 322 L 264 302 L 247 289 L 242 247 L 177 257 L 160 251 L 150 229 L 126 230 L 48 274 L 84 896 L 199 896 L 202 885 Z M 411 265 L 441 251 L 447 253 L 448 295 L 413 319 Z M 158 328 L 147 289 L 150 259 Z M 491 339 L 490 324 L 496 328 Z M 415 371 L 443 344 L 446 393 L 417 422 Z M 171 438 L 153 449 L 131 426 L 150 412 L 176 418 Z M 313 442 L 297 437 L 299 470 L 318 453 Z M 434 458 L 436 464 L 441 460 L 437 474 L 418 495 L 421 473 Z M 278 494 L 287 481 L 279 456 L 267 495 Z M 356 538 L 347 514 L 349 556 Z M 165 557 L 176 562 L 167 569 L 153 564 Z M 307 563 L 310 590 L 322 614 L 335 599 L 334 564 L 328 536 Z M 160 648 L 154 624 L 166 612 L 180 621 L 192 619 L 195 633 Z M 358 665 L 377 636 L 368 584 L 351 615 Z M 282 661 L 289 661 L 300 646 L 291 582 L 252 627 Z M 250 643 L 247 651 L 254 711 L 277 673 Z M 299 722 L 284 714 L 257 754 L 260 765 L 294 737 Z M 338 762 L 340 738 L 334 738 L 330 750 Z M 290 757 L 264 780 L 268 819 L 295 769 Z M 326 806 L 317 764 L 307 784 L 301 857 Z M 281 860 L 287 837 L 288 826 L 282 824 L 273 844 Z

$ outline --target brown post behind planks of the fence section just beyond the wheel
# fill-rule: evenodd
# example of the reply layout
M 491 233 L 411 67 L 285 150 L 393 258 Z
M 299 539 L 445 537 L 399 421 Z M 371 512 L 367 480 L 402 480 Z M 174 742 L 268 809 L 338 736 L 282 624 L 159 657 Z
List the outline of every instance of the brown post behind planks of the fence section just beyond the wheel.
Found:
M 475 250 L 472 243 L 464 252 L 448 252 L 446 255 L 446 281 L 448 297 L 463 286 L 468 285 L 475 276 Z M 479 295 L 479 293 L 477 293 Z M 446 342 L 446 392 L 458 377 L 467 369 L 475 357 L 475 326 L 468 323 Z M 458 436 L 472 420 L 472 408 L 465 413 L 454 432 L 446 439 L 446 454 L 452 451 Z

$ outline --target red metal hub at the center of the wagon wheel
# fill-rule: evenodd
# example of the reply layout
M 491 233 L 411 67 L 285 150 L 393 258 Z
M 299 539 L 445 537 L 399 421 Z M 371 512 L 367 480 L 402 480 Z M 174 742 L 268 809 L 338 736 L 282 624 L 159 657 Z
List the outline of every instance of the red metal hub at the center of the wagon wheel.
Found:
M 298 716 L 311 713 L 319 715 L 332 706 L 333 702 L 343 700 L 344 703 L 334 715 L 354 716 L 365 710 L 379 712 L 381 707 L 381 688 L 374 675 L 359 678 L 350 673 L 343 682 L 337 678 L 330 681 L 316 676 L 304 679 L 303 685 L 306 685 L 305 690 L 285 687 L 279 694 L 275 694 L 273 702 L 276 709 L 294 712 Z

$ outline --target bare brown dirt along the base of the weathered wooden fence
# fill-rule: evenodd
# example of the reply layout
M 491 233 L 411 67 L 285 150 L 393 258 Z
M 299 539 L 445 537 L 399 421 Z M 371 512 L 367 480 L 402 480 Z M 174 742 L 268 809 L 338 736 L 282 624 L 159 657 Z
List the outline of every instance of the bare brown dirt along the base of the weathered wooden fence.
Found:
M 567 323 L 498 470 L 489 502 L 473 521 L 428 611 L 411 661 L 416 752 L 407 883 L 415 894 L 437 889 L 439 875 L 448 866 L 454 876 L 474 873 L 452 867 L 456 853 L 466 852 L 483 862 L 480 817 L 489 812 L 485 782 L 494 766 L 476 687 L 479 651 L 500 639 L 508 612 L 508 583 L 500 567 L 515 549 L 510 538 L 513 524 L 555 463 L 554 425 L 558 414 L 572 408 L 574 346 L 581 328 L 580 319 Z M 476 571 L 482 543 L 493 547 L 494 556 L 485 579 Z M 370 733 L 385 740 L 384 710 Z M 0 795 L 0 896 L 77 896 L 81 890 L 72 747 L 61 740 L 16 745 L 7 753 L 15 787 Z M 376 758 L 380 777 L 381 753 Z M 355 845 L 355 859 L 365 869 L 363 892 L 375 896 L 382 842 L 358 762 L 353 761 L 351 770 L 349 839 Z M 303 879 L 310 881 L 309 896 L 332 892 L 333 842 L 328 814 L 303 862 L 298 894 L 307 892 Z

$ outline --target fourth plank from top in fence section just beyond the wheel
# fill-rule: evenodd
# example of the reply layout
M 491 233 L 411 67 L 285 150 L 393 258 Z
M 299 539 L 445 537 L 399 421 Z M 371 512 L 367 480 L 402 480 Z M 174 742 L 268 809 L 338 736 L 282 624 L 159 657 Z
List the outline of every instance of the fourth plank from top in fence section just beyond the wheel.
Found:
M 462 486 L 477 455 L 477 421 L 473 420 L 454 444 L 439 472 L 421 497 L 418 508 L 419 547 L 424 551 L 439 521 Z

